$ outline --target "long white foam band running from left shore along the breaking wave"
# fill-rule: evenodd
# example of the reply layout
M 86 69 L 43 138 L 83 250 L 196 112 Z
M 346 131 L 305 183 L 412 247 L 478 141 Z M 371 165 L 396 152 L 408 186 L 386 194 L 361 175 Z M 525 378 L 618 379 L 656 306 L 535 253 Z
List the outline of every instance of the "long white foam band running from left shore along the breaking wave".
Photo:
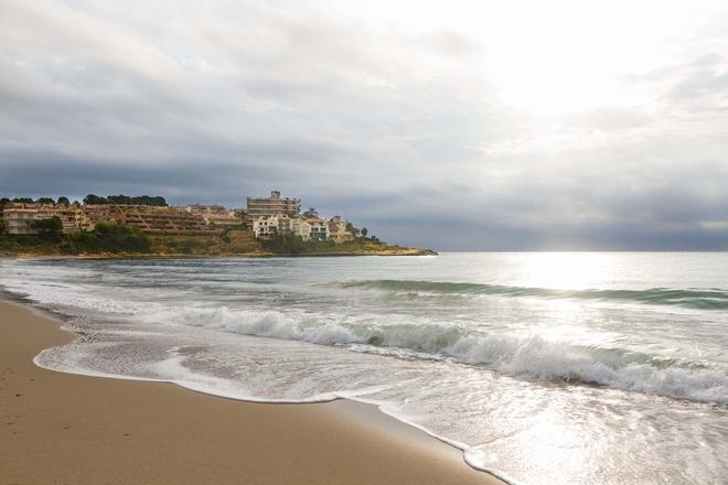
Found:
M 220 328 L 244 335 L 285 338 L 319 345 L 372 346 L 409 357 L 450 357 L 470 365 L 494 366 L 503 373 L 536 379 L 582 381 L 703 402 L 728 403 L 725 369 L 657 367 L 649 357 L 633 362 L 613 349 L 590 349 L 538 336 L 482 335 L 457 325 L 432 323 L 376 324 L 368 319 L 324 321 L 323 315 L 214 308 L 169 308 L 132 303 L 72 283 L 35 280 L 3 281 L 7 289 L 46 305 L 73 305 L 89 311 L 129 315 L 144 322 Z M 150 306 L 153 311 L 150 311 Z M 360 351 L 362 347 L 358 347 Z M 627 354 L 629 356 L 629 354 Z

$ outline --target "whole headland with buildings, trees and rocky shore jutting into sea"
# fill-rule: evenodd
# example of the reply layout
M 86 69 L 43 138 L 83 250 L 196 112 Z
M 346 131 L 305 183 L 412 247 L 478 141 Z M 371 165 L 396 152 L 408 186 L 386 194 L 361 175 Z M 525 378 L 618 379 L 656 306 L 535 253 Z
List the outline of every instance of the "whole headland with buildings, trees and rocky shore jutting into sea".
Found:
M 161 196 L 88 194 L 0 198 L 0 256 L 431 255 L 389 246 L 340 215 L 301 212 L 301 200 L 247 197 L 246 206 L 170 206 Z

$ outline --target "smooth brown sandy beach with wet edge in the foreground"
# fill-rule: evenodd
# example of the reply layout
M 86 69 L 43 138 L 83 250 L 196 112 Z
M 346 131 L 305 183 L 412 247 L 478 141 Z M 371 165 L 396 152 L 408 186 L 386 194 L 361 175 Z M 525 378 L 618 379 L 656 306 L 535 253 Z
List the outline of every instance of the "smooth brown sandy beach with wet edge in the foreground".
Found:
M 368 406 L 243 402 L 32 363 L 73 338 L 0 302 L 1 484 L 501 483 Z

